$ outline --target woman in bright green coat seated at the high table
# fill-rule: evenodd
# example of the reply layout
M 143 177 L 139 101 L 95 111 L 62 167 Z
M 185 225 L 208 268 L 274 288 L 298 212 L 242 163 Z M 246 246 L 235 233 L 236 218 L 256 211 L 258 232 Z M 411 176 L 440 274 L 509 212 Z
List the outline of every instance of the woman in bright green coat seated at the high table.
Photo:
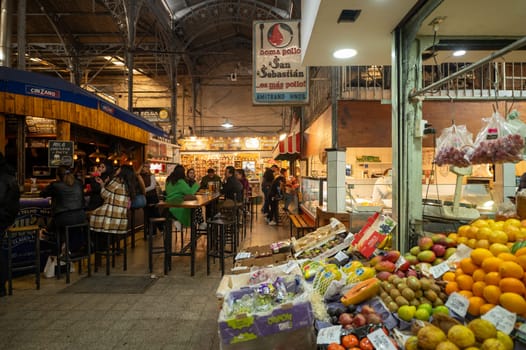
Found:
M 199 190 L 199 184 L 192 186 L 186 182 L 184 166 L 178 164 L 166 178 L 166 201 L 181 201 L 185 195 L 194 195 Z M 170 214 L 177 220 L 175 226 L 181 230 L 182 226 L 189 227 L 191 211 L 189 208 L 170 208 Z M 178 224 L 179 222 L 179 224 Z

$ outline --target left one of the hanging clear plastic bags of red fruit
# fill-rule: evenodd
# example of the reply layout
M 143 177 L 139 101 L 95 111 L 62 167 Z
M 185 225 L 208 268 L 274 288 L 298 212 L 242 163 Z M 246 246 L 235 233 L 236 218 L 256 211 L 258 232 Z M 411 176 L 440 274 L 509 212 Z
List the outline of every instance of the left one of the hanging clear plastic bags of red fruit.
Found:
M 453 124 L 442 130 L 437 139 L 437 153 L 435 163 L 438 166 L 454 165 L 467 167 L 471 163 L 467 156 L 468 150 L 473 148 L 473 135 L 465 125 Z

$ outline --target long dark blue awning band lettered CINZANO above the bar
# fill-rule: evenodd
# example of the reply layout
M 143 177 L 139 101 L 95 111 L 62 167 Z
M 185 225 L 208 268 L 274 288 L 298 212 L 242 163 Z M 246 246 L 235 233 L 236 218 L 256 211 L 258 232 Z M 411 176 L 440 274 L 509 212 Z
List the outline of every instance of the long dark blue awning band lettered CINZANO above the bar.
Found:
M 62 79 L 14 68 L 0 67 L 0 91 L 71 102 L 87 108 L 100 109 L 123 122 L 156 136 L 168 137 L 163 129 L 148 120 Z

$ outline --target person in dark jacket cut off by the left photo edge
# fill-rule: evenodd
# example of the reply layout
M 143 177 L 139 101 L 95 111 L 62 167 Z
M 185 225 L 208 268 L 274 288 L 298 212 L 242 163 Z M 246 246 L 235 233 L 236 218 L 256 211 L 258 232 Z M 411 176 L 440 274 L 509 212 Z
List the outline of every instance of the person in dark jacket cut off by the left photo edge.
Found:
M 15 171 L 0 152 L 0 241 L 4 240 L 6 229 L 15 222 L 20 208 L 20 189 Z M 7 251 L 0 246 L 0 297 L 6 295 Z

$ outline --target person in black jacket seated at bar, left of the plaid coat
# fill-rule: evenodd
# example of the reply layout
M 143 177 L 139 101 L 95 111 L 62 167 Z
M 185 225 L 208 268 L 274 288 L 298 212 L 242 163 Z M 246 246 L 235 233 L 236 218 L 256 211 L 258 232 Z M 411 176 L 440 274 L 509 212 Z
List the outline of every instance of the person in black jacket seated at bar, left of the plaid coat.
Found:
M 86 222 L 84 210 L 84 193 L 82 184 L 66 167 L 57 168 L 57 181 L 50 183 L 40 192 L 40 197 L 51 197 L 52 221 L 48 231 L 63 234 L 66 225 L 76 225 Z M 80 248 L 84 237 L 71 236 L 70 249 Z M 64 240 L 62 239 L 62 242 Z M 57 247 L 60 251 L 61 247 Z

